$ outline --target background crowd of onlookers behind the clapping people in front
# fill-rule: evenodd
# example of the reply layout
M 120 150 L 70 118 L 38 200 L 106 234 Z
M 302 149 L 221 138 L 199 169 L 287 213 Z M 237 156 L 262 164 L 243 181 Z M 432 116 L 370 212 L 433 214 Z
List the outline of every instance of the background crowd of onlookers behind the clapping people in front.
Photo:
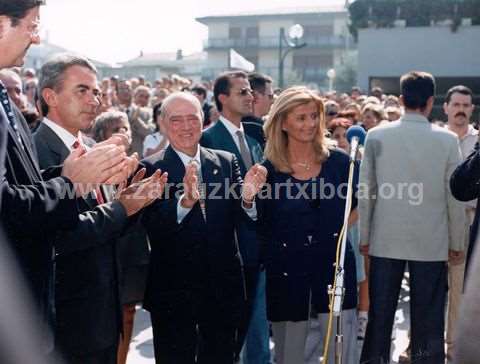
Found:
M 262 126 L 268 118 L 270 107 L 276 98 L 279 97 L 282 90 L 273 88 L 273 80 L 259 73 L 252 73 L 248 76 L 250 86 L 253 89 L 253 109 L 242 115 L 247 134 L 259 141 L 262 148 L 265 146 Z M 39 102 L 39 80 L 33 69 L 3 69 L 0 71 L 0 80 L 5 85 L 11 100 L 22 112 L 32 132 L 38 130 L 42 118 L 48 112 L 42 108 Z M 218 110 L 219 102 L 214 97 L 214 82 L 202 82 L 194 84 L 191 80 L 179 75 L 163 77 L 162 79 L 150 82 L 144 76 L 132 77 L 130 79 L 120 79 L 118 76 L 104 78 L 99 82 L 100 93 L 98 95 L 99 107 L 97 116 L 91 126 L 82 130 L 85 140 L 91 140 L 91 143 L 108 140 L 112 135 L 121 133 L 129 139 L 131 153 L 137 153 L 138 157 L 145 158 L 155 153 L 164 151 L 169 141 L 165 135 L 163 124 L 161 123 L 162 102 L 169 96 L 178 92 L 189 93 L 195 96 L 203 111 L 203 129 L 212 128 L 218 122 L 221 112 Z M 456 90 L 461 94 L 472 96 L 468 89 L 459 88 Z M 449 95 L 456 92 L 455 89 Z M 390 122 L 398 120 L 404 114 L 404 108 L 401 105 L 399 97 L 396 95 L 386 95 L 380 87 L 374 87 L 367 93 L 359 87 L 353 87 L 349 93 L 337 93 L 336 91 L 320 92 L 311 91 L 322 100 L 324 105 L 324 117 L 326 135 L 337 145 L 338 148 L 349 151 L 349 143 L 346 138 L 348 128 L 353 125 L 360 125 L 366 132 L 370 129 L 387 125 Z M 448 110 L 446 109 L 448 117 Z M 468 119 L 471 113 L 468 114 Z M 442 121 L 435 121 L 441 127 L 450 125 Z M 475 130 L 469 126 L 469 135 L 476 139 Z M 455 126 L 454 130 L 455 131 Z M 473 149 L 473 142 L 469 142 L 465 147 L 464 157 L 468 151 Z M 467 150 L 468 149 L 468 150 Z M 470 208 L 470 216 L 473 217 L 473 207 Z M 145 239 L 141 234 L 136 239 Z M 361 256 L 359 251 L 358 223 L 354 223 L 349 229 L 349 240 L 354 247 L 356 261 L 356 276 L 358 281 L 358 339 L 365 337 L 369 297 L 368 297 L 368 259 Z M 144 245 L 143 258 L 140 258 L 143 268 L 137 271 L 139 277 L 146 274 L 145 267 L 148 262 L 148 248 Z M 137 249 L 138 250 L 138 249 Z M 128 266 L 128 249 L 124 254 L 124 261 Z M 130 264 L 132 265 L 132 264 Z M 135 265 L 135 264 L 133 264 Z M 137 267 L 138 268 L 138 267 Z M 139 273 L 140 272 L 140 273 Z M 135 274 L 135 273 L 134 273 Z M 461 273 L 463 274 L 463 270 Z M 128 274 L 125 276 L 128 277 Z M 457 278 L 457 280 L 460 278 Z M 140 279 L 141 280 L 141 279 Z M 135 304 L 142 300 L 142 291 L 144 282 L 139 280 L 132 281 L 132 285 L 138 285 L 134 288 L 134 298 L 125 300 L 124 307 L 124 326 L 127 330 L 127 340 L 123 348 L 119 350 L 120 361 L 125 362 L 128 352 L 128 343 L 133 326 L 133 315 Z M 460 287 L 463 280 L 456 282 Z M 129 289 L 132 289 L 131 287 Z M 458 289 L 454 300 L 458 300 Z M 455 301 L 456 302 L 456 301 Z M 457 304 L 456 304 L 457 305 Z M 454 320 L 455 310 L 452 310 Z M 450 315 L 449 315 L 450 319 Z M 453 325 L 453 322 L 451 323 Z M 130 330 L 130 331 L 129 331 Z M 395 329 L 393 330 L 395 333 Z M 393 334 L 394 335 L 394 334 Z M 448 335 L 449 343 L 452 342 L 451 334 Z M 126 347 L 125 347 L 126 345 Z M 123 352 L 122 352 L 123 351 Z M 403 354 L 408 360 L 409 353 Z

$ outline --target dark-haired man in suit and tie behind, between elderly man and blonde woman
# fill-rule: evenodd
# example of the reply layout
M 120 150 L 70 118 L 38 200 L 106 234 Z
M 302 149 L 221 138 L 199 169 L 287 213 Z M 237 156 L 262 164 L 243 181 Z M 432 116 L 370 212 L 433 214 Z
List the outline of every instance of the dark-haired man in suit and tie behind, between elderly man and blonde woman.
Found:
M 261 144 L 246 133 L 241 122 L 242 118 L 251 115 L 253 111 L 253 92 L 247 75 L 243 72 L 220 75 L 215 80 L 213 92 L 220 119 L 203 132 L 200 144 L 235 154 L 244 177 L 254 163 L 263 159 Z M 239 222 L 236 233 L 245 265 L 248 298 L 244 320 L 246 326 L 240 331 L 240 343 L 243 345 L 245 341 L 242 359 L 244 364 L 268 364 L 270 348 L 265 272 L 260 272 L 259 269 L 255 226 L 249 221 Z

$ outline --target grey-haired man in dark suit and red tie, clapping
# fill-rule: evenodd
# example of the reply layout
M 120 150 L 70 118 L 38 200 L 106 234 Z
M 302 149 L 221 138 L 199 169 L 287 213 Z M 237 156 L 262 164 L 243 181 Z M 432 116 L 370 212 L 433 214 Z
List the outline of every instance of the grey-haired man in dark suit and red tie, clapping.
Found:
M 80 56 L 57 56 L 40 74 L 40 102 L 48 112 L 34 141 L 40 167 L 48 168 L 83 144 L 80 130 L 93 123 L 100 91 L 95 66 Z M 116 363 L 122 313 L 115 243 L 127 217 L 143 207 L 143 195 L 129 198 L 124 190 L 104 203 L 107 197 L 97 188 L 79 199 L 79 224 L 55 239 L 55 340 L 69 364 Z

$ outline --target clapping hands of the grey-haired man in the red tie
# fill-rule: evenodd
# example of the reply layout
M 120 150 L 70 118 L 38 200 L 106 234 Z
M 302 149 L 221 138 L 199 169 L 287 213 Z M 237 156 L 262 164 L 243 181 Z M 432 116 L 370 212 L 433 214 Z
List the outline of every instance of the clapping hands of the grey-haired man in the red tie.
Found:
M 145 168 L 138 171 L 127 188 L 117 194 L 117 200 L 123 205 L 127 216 L 132 216 L 144 207 L 160 198 L 167 183 L 168 173 L 156 170 L 149 178 L 145 176 Z

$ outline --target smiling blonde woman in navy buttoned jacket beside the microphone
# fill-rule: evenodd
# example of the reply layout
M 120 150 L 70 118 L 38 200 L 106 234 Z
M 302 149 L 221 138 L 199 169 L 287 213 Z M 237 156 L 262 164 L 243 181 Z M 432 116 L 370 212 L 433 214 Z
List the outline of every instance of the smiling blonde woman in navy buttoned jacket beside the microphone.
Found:
M 313 358 L 312 352 L 323 351 L 329 312 L 327 289 L 333 283 L 349 157 L 325 138 L 323 102 L 304 87 L 280 94 L 264 130 L 268 174 L 256 206 L 265 245 L 267 313 L 273 327 L 276 363 L 299 364 L 307 359 L 318 363 L 320 354 Z M 244 201 L 249 202 L 251 196 L 244 195 Z M 357 282 L 350 244 L 345 273 L 344 362 L 357 364 Z M 318 319 L 320 335 L 307 343 L 312 315 Z M 335 329 L 332 334 L 330 363 L 334 362 Z

